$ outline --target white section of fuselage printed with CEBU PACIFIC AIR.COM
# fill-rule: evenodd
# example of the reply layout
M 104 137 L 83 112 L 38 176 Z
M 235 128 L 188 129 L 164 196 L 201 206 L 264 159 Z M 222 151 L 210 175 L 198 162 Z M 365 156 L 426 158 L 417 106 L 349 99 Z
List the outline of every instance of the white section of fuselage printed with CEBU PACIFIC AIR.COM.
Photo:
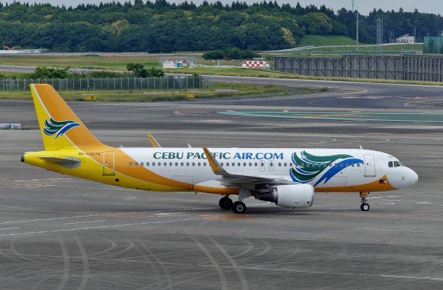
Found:
M 202 149 L 120 149 L 136 161 L 127 164 L 129 167 L 143 166 L 156 174 L 185 183 L 228 187 L 211 170 Z M 372 150 L 208 149 L 229 174 L 284 180 L 288 184 L 307 183 L 313 185 L 316 191 L 355 192 L 362 190 L 359 186 L 367 184 L 379 184 L 368 188 L 368 191 L 384 191 L 406 188 L 418 179 L 413 170 L 401 165 L 394 156 Z M 388 183 L 392 188 L 384 186 Z

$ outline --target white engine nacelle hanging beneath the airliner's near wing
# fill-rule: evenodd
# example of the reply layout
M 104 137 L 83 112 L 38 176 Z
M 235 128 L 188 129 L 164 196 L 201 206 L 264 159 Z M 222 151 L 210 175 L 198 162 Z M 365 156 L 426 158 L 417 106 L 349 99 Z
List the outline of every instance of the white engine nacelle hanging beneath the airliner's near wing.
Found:
M 310 184 L 278 185 L 257 196 L 284 208 L 310 208 L 314 203 L 314 187 Z

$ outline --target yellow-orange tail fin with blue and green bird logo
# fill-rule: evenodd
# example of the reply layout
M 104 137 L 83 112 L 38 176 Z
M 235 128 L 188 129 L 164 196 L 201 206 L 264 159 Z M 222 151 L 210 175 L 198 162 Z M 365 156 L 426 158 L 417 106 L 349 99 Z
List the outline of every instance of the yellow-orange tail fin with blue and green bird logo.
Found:
M 50 84 L 31 84 L 45 150 L 104 146 Z

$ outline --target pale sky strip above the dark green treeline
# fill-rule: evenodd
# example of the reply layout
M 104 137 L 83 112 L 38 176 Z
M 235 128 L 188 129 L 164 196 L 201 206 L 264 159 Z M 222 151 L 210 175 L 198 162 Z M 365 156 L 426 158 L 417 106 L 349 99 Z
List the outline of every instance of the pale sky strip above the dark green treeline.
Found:
M 41 3 L 51 3 L 53 5 L 64 5 L 64 6 L 77 6 L 80 3 L 100 3 L 100 1 L 107 2 L 107 0 L 19 0 L 21 2 L 41 2 Z M 145 0 L 143 0 L 145 1 Z M 151 0 L 154 1 L 154 0 Z M 180 3 L 181 1 L 177 0 L 168 0 L 171 3 Z M 184 1 L 184 0 L 183 0 Z M 194 3 L 201 3 L 203 0 L 193 0 Z M 217 0 L 206 0 L 208 2 L 217 1 Z M 233 0 L 221 0 L 222 3 L 232 3 Z M 237 0 L 235 0 L 237 1 Z M 262 0 L 242 0 L 246 1 L 246 3 L 260 2 Z M 269 0 L 266 0 L 269 1 Z M 272 0 L 273 1 L 273 0 Z M 345 7 L 347 9 L 352 8 L 352 0 L 298 0 L 302 6 L 307 6 L 309 4 L 315 4 L 316 6 L 321 6 L 325 4 L 329 8 L 333 8 L 334 11 Z M 13 2 L 13 0 L 0 0 L 2 3 Z M 125 2 L 125 0 L 120 0 L 120 2 Z M 188 0 L 190 2 L 190 0 Z M 278 3 L 290 3 L 292 6 L 295 6 L 297 0 L 277 0 Z M 355 8 L 358 6 L 359 11 L 363 15 L 367 15 L 373 8 L 381 8 L 383 10 L 395 10 L 398 11 L 399 8 L 403 8 L 405 11 L 413 11 L 417 8 L 420 12 L 428 12 L 435 14 L 443 14 L 443 1 L 442 0 L 354 0 Z

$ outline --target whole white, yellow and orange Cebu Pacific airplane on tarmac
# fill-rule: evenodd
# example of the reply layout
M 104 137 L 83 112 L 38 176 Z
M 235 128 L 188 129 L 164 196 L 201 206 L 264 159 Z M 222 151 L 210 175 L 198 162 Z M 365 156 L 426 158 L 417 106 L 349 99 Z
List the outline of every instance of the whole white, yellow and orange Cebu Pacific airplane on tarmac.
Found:
M 21 161 L 109 185 L 156 192 L 220 194 L 219 206 L 246 212 L 255 197 L 284 208 L 309 208 L 314 192 L 407 188 L 417 174 L 390 154 L 367 149 L 111 147 L 98 141 L 49 84 L 30 84 L 44 151 Z M 238 195 L 233 202 L 230 195 Z

